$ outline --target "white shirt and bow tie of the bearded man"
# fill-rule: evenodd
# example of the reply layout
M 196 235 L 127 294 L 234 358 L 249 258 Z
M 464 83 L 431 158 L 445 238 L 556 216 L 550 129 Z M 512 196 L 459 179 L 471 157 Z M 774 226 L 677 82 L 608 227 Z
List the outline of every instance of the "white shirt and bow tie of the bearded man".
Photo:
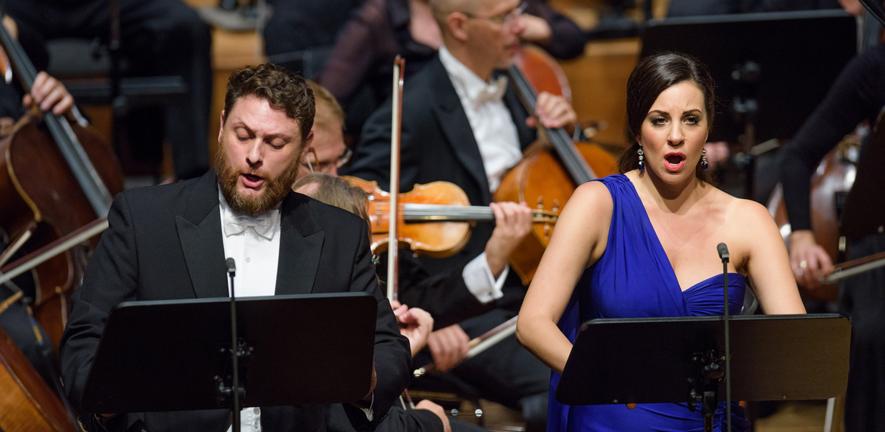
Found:
M 221 209 L 221 233 L 224 256 L 237 265 L 236 296 L 271 296 L 276 291 L 277 265 L 280 261 L 280 210 L 273 209 L 256 217 L 233 211 L 218 192 Z M 228 278 L 228 295 L 230 279 Z M 228 428 L 231 431 L 233 427 Z M 261 409 L 240 410 L 240 430 L 261 432 Z

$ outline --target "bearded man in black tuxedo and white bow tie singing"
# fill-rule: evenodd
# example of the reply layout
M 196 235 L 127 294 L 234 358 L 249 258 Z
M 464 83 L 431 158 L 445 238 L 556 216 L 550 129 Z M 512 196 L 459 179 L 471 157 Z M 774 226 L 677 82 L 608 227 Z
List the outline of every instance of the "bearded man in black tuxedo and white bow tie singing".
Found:
M 290 190 L 301 151 L 311 140 L 313 117 L 313 94 L 300 77 L 267 64 L 244 68 L 228 82 L 216 171 L 127 191 L 114 200 L 110 228 L 74 295 L 62 340 L 62 371 L 74 406 L 81 403 L 115 305 L 225 297 L 225 258 L 234 257 L 238 286 L 244 287 L 238 295 L 362 291 L 376 296 L 376 385 L 363 405 L 345 409 L 358 430 L 384 416 L 407 382 L 409 347 L 377 289 L 366 224 Z M 255 424 L 264 431 L 321 430 L 328 415 L 327 406 L 248 408 L 242 423 L 243 430 L 256 430 Z M 230 426 L 224 410 L 85 420 L 113 430 L 152 432 Z

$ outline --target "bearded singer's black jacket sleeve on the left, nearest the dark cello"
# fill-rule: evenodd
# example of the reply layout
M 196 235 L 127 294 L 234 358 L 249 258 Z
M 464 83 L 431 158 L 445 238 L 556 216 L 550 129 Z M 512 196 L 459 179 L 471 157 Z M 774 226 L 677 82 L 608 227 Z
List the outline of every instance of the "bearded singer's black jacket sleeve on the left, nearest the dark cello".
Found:
M 83 284 L 74 292 L 73 309 L 61 341 L 61 366 L 68 399 L 80 406 L 105 321 L 117 304 L 135 298 L 135 234 L 126 195 L 114 200 L 110 227 L 101 236 Z

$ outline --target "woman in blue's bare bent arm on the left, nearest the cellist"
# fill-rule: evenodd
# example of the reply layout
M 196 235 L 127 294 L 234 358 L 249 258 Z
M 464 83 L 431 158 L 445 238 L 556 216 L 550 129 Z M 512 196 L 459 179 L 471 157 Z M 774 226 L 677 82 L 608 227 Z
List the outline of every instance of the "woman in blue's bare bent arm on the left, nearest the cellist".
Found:
M 541 361 L 562 372 L 572 344 L 557 327 L 575 283 L 605 250 L 612 200 L 605 185 L 580 186 L 553 231 L 522 308 L 516 335 Z

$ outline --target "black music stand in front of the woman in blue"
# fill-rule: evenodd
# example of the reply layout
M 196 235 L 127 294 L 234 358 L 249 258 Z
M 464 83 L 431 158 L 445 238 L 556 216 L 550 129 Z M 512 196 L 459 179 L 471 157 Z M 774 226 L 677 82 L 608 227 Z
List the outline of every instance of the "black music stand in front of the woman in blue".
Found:
M 730 324 L 732 400 L 845 392 L 848 318 L 741 315 Z M 688 402 L 715 410 L 724 395 L 723 346 L 718 316 L 591 320 L 581 326 L 556 398 L 570 405 Z

